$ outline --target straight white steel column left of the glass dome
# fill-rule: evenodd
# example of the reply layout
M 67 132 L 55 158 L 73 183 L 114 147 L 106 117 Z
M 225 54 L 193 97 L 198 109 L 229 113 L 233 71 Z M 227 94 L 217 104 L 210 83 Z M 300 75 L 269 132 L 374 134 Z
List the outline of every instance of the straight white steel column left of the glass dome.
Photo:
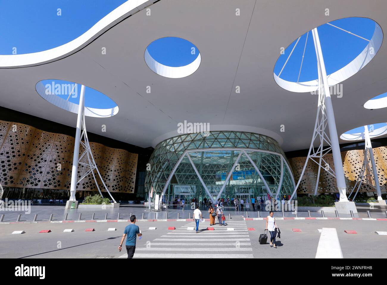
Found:
M 85 103 L 85 86 L 82 85 L 80 88 L 79 95 L 79 106 L 78 106 L 78 117 L 77 117 L 77 130 L 75 132 L 75 144 L 74 144 L 74 157 L 71 171 L 71 186 L 70 186 L 70 201 L 75 201 L 75 192 L 77 190 L 77 176 L 78 176 L 78 158 L 79 158 L 79 142 L 80 142 L 80 131 L 82 127 L 82 117 Z

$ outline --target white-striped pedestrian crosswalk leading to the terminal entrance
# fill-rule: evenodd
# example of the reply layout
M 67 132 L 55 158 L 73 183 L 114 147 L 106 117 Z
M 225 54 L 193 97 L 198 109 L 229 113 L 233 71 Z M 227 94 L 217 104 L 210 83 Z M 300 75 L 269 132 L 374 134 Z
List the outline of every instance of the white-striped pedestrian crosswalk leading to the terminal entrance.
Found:
M 245 221 L 229 221 L 227 226 L 216 224 L 212 226 L 214 230 L 206 230 L 208 222 L 200 223 L 199 233 L 192 227 L 196 228 L 195 222 L 187 222 L 143 247 L 136 247 L 134 258 L 253 258 Z M 120 256 L 126 257 L 127 254 Z

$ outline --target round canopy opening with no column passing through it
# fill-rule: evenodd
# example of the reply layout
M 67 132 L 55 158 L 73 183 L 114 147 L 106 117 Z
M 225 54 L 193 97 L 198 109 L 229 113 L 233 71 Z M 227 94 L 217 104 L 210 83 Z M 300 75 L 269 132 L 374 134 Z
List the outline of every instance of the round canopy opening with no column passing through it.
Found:
M 159 38 L 145 50 L 147 66 L 168 78 L 182 78 L 194 73 L 200 66 L 199 49 L 190 41 L 177 37 Z

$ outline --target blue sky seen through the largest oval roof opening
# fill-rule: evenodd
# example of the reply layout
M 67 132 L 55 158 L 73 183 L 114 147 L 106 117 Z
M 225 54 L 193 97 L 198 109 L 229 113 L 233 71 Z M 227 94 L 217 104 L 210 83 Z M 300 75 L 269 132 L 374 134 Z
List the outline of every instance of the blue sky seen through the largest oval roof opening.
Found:
M 331 24 L 350 31 L 356 35 L 370 40 L 375 31 L 375 22 L 368 18 L 351 17 L 330 22 Z M 350 35 L 335 27 L 324 24 L 317 28 L 324 55 L 327 74 L 346 66 L 368 45 L 368 41 Z M 305 47 L 307 33 L 301 36 L 300 41 L 293 51 L 280 78 L 296 82 L 300 71 L 302 54 Z M 274 67 L 274 73 L 279 74 L 297 39 L 285 49 L 285 54 L 280 55 Z M 317 60 L 313 44 L 312 33 L 309 32 L 304 61 L 302 64 L 300 82 L 317 79 Z

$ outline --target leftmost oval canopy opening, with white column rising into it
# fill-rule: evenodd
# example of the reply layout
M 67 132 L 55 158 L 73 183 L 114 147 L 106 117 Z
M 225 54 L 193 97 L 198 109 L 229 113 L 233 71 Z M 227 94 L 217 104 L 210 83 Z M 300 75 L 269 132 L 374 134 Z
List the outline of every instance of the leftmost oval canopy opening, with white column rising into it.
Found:
M 81 85 L 59 79 L 36 83 L 36 92 L 51 104 L 78 114 Z M 85 116 L 111 117 L 118 113 L 117 104 L 105 94 L 85 86 Z

